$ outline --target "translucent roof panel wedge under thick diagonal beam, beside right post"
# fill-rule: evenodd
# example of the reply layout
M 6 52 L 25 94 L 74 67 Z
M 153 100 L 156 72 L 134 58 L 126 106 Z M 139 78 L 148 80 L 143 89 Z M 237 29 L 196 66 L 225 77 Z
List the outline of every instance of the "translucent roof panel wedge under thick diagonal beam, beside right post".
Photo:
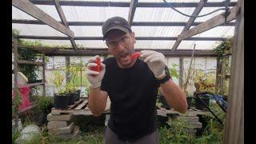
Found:
M 222 37 L 230 38 L 234 36 L 234 26 L 218 26 L 213 29 L 196 34 L 193 37 Z

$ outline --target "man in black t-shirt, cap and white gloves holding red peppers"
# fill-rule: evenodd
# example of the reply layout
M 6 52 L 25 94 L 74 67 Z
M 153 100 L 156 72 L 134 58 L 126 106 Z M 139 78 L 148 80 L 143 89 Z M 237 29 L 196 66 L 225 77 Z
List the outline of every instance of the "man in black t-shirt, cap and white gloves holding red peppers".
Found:
M 152 50 L 142 50 L 141 58 L 133 60 L 135 34 L 126 19 L 109 18 L 102 26 L 103 39 L 110 54 L 97 66 L 98 55 L 88 60 L 86 77 L 90 82 L 89 107 L 94 116 L 102 114 L 110 97 L 110 120 L 106 129 L 106 144 L 156 144 L 158 88 L 166 102 L 175 110 L 186 113 L 186 96 L 170 78 L 165 57 Z

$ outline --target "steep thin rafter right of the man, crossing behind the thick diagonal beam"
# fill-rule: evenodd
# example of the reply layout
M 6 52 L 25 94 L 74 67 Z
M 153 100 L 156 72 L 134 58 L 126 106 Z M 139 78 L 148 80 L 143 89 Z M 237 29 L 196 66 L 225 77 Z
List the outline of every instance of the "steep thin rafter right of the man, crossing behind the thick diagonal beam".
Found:
M 203 6 L 205 5 L 205 3 L 207 2 L 207 0 L 200 0 L 200 2 L 198 3 L 198 6 L 194 9 L 192 15 L 194 16 L 198 16 L 198 14 L 200 13 L 200 11 L 202 10 Z M 190 27 L 192 26 L 192 24 L 194 23 L 195 18 L 194 17 L 190 17 L 189 21 L 186 23 L 186 26 L 183 28 L 182 33 L 186 30 L 189 30 Z M 181 39 L 178 39 L 175 43 L 174 46 L 172 48 L 172 50 L 177 50 L 178 45 L 182 42 Z

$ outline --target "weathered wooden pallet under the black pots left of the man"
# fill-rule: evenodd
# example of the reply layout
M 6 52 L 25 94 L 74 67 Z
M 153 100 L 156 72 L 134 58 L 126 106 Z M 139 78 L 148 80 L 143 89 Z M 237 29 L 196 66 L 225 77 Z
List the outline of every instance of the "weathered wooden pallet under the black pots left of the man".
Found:
M 104 113 L 109 113 L 109 110 L 105 110 Z M 90 109 L 88 108 L 88 102 L 87 100 L 80 99 L 78 102 L 75 102 L 74 105 L 68 106 L 67 109 L 51 109 L 51 114 L 53 115 L 60 115 L 60 114 L 66 114 L 66 113 L 72 113 L 74 115 L 92 115 Z

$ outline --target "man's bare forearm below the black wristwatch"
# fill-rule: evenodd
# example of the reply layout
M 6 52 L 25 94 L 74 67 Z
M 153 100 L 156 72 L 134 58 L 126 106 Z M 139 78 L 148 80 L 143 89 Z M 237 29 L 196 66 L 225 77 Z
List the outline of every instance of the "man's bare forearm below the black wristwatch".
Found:
M 160 92 L 166 98 L 166 102 L 180 113 L 186 113 L 186 94 L 172 79 L 161 84 Z

